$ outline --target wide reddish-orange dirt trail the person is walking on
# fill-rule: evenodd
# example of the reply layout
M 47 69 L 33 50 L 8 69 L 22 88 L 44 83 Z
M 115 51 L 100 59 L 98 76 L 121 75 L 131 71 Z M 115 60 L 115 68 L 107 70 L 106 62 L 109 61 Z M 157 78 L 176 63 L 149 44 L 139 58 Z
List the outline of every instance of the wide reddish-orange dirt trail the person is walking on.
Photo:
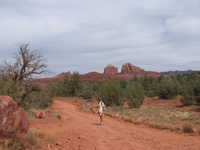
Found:
M 105 117 L 99 126 L 94 114 L 79 111 L 70 101 L 55 100 L 62 120 L 41 120 L 34 128 L 56 137 L 52 150 L 200 150 L 200 136 L 152 129 Z M 44 148 L 48 149 L 48 148 Z

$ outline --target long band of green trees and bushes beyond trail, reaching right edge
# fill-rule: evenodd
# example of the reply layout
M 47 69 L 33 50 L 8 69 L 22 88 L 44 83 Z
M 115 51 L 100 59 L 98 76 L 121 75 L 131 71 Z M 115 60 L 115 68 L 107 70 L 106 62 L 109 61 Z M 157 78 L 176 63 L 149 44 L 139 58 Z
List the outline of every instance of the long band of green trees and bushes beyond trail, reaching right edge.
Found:
M 184 105 L 200 102 L 200 74 L 144 77 L 131 81 L 81 82 L 78 73 L 67 75 L 58 85 L 58 96 L 79 96 L 86 99 L 99 96 L 106 105 L 140 107 L 144 97 L 171 99 L 181 96 Z

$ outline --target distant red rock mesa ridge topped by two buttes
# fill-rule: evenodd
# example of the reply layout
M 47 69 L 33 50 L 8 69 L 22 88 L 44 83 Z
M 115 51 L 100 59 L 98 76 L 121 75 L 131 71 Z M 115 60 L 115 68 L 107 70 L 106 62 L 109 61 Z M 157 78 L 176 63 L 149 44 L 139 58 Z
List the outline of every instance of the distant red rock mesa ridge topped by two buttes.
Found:
M 69 72 L 61 73 L 55 77 L 52 78 L 43 78 L 43 79 L 37 79 L 35 82 L 60 82 L 64 79 L 66 75 L 71 75 Z M 132 65 L 131 63 L 126 63 L 122 65 L 121 72 L 118 72 L 118 68 L 113 65 L 107 65 L 104 68 L 103 73 L 99 72 L 89 72 L 86 74 L 80 74 L 81 81 L 85 82 L 103 82 L 106 80 L 132 80 L 134 78 L 141 78 L 141 77 L 160 77 L 159 72 L 150 72 L 145 71 L 144 69 L 137 67 L 135 65 Z

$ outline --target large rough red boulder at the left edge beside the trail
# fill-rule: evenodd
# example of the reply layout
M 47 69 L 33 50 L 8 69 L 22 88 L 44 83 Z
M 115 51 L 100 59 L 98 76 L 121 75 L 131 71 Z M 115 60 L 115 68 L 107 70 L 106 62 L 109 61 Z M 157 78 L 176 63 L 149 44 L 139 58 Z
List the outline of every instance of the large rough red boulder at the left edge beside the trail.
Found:
M 0 136 L 16 137 L 27 133 L 29 120 L 25 111 L 9 96 L 0 96 Z

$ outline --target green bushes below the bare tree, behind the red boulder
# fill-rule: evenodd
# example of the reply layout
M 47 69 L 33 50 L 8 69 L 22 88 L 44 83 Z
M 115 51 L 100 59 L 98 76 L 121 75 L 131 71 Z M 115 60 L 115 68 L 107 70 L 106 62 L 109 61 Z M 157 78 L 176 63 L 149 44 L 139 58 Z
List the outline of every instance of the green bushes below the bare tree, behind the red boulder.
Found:
M 13 80 L 0 80 L 0 95 L 11 96 L 23 108 L 44 108 L 49 106 L 55 96 L 51 84 L 27 84 Z

